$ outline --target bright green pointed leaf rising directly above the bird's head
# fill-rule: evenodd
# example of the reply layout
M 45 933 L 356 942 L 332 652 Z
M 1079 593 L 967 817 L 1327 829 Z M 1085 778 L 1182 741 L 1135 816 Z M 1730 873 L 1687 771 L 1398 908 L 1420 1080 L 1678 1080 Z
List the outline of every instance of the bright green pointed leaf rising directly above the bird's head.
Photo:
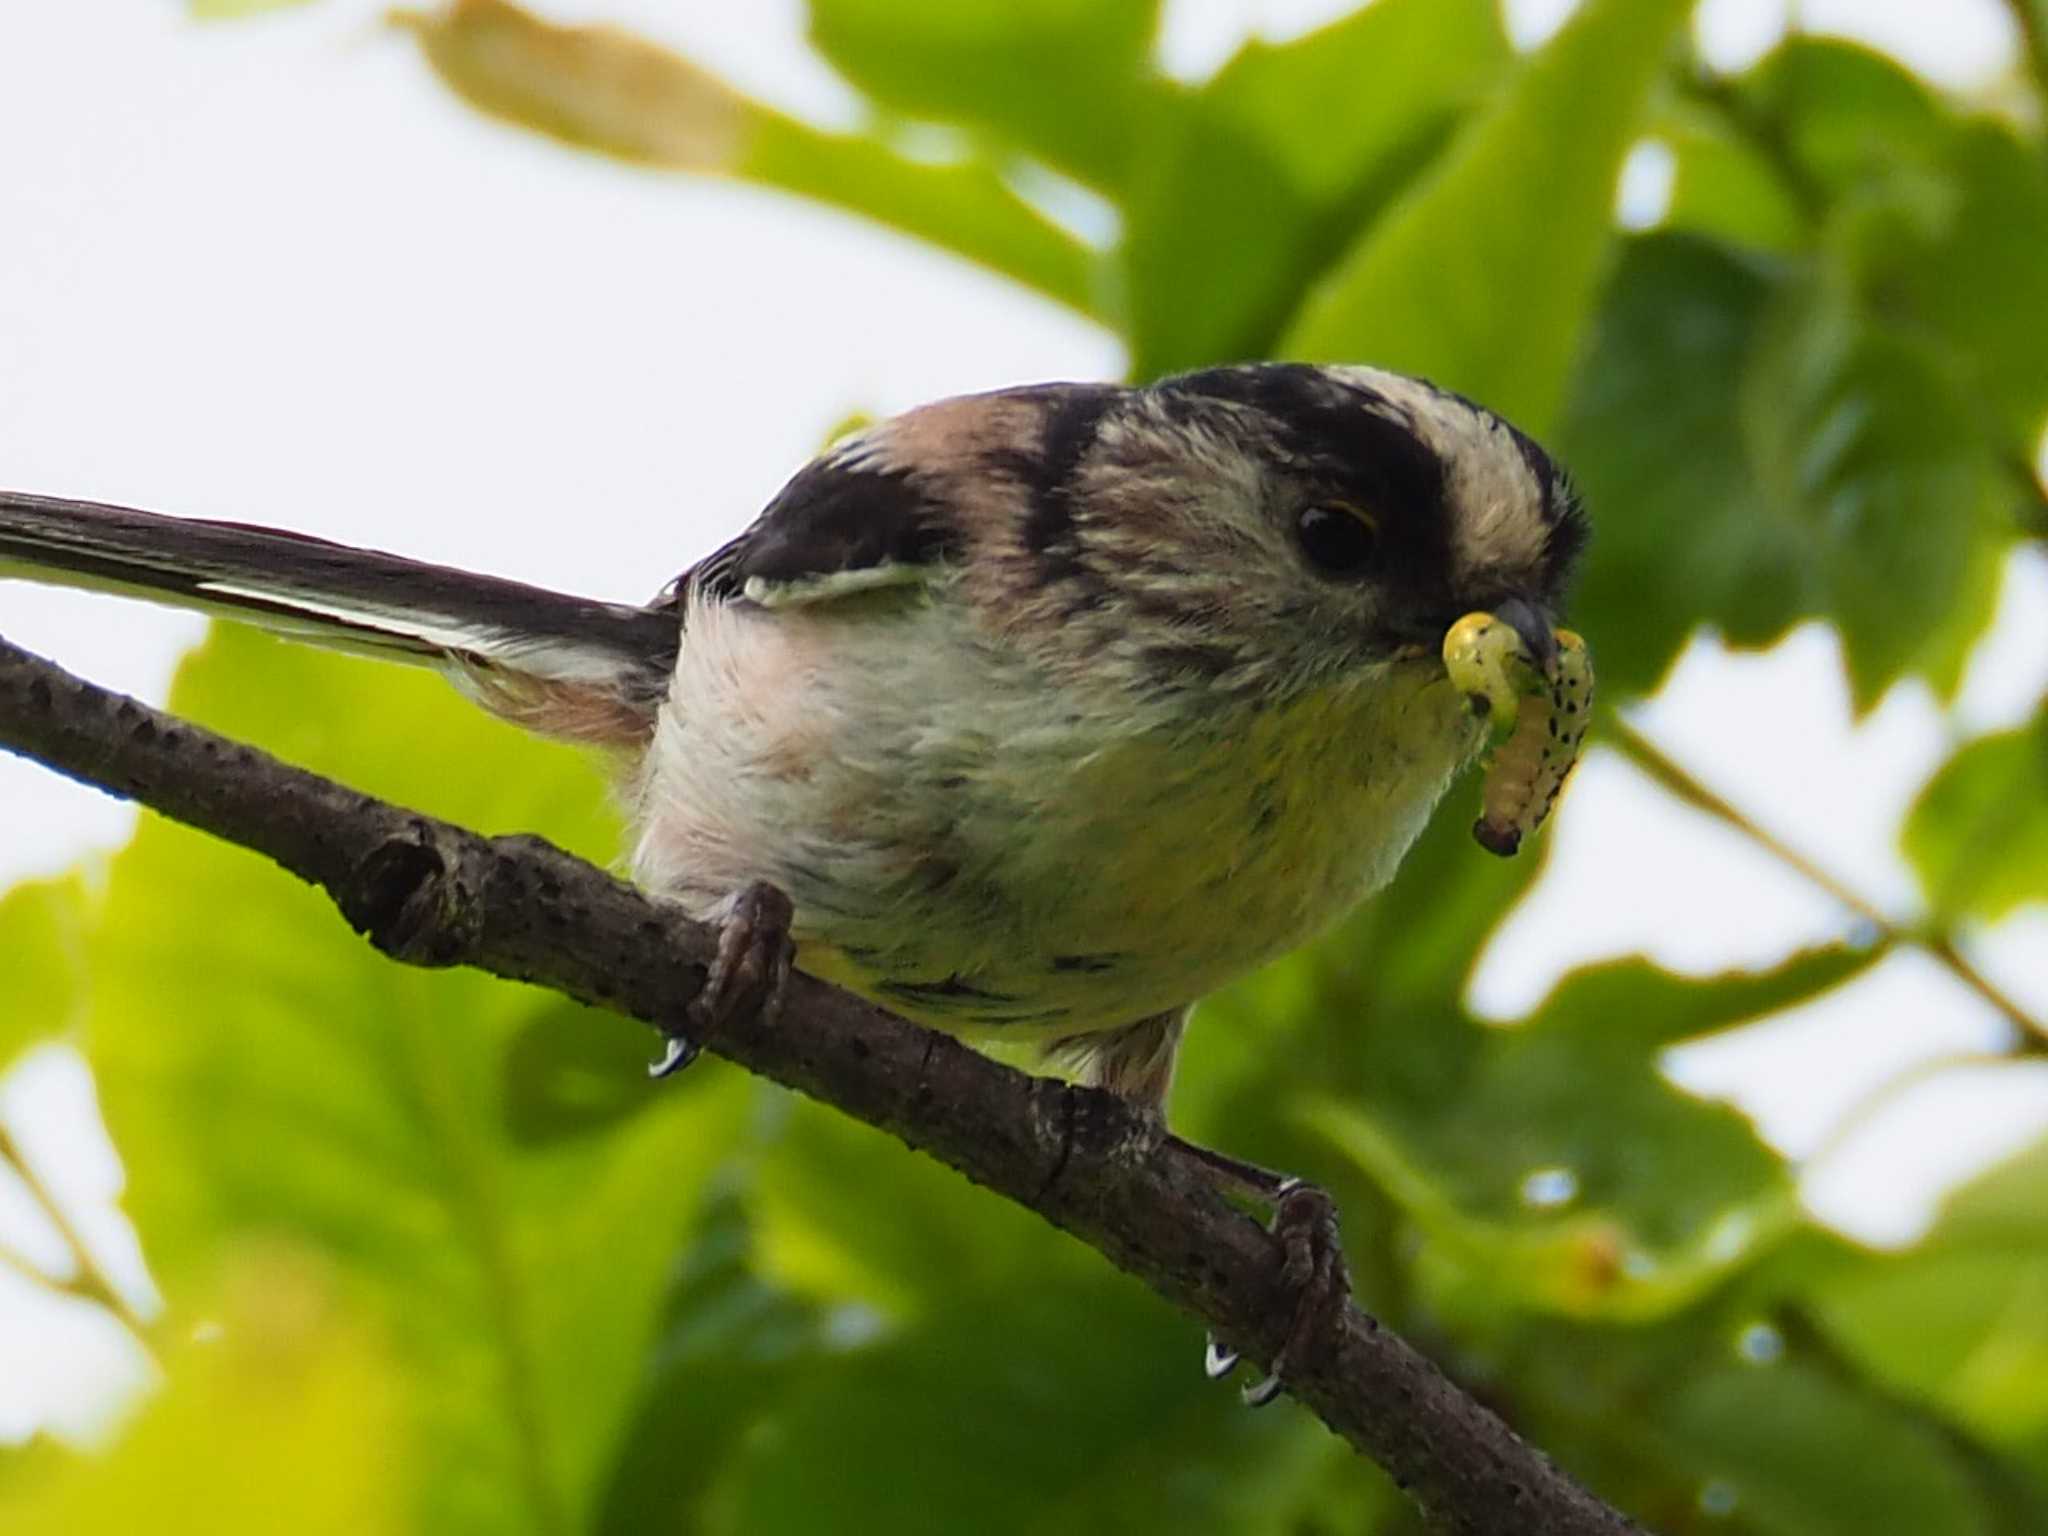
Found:
M 1284 350 L 1423 373 L 1546 432 L 1606 268 L 1622 158 L 1690 8 L 1587 0 L 1364 231 Z

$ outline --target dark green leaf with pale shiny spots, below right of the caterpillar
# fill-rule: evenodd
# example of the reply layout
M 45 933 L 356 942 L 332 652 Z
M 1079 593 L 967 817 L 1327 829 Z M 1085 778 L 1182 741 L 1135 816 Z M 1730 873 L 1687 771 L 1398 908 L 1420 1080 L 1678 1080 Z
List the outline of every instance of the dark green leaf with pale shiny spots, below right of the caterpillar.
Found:
M 1673 1087 L 1663 1051 L 1864 965 L 1821 950 L 1686 981 L 1626 961 L 1513 1028 L 1362 999 L 1370 1075 L 1309 1114 L 1427 1233 L 1438 1305 L 1659 1317 L 1800 1223 L 1780 1159 L 1743 1116 Z

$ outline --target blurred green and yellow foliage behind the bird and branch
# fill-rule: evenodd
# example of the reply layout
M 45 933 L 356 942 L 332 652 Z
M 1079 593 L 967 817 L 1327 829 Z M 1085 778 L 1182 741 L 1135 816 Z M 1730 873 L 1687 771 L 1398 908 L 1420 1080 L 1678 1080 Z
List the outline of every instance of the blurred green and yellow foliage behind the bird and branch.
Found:
M 1595 512 L 1599 739 L 1796 860 L 1630 705 L 1702 627 L 1812 618 L 1858 709 L 1948 698 L 2048 537 L 2048 18 L 2013 18 L 2015 74 L 1964 100 L 1800 35 L 1716 74 L 1686 0 L 1583 0 L 1536 51 L 1493 0 L 1376 0 L 1200 84 L 1157 68 L 1153 0 L 811 0 L 866 104 L 842 129 L 504 0 L 393 25 L 481 113 L 877 219 L 1110 326 L 1135 377 L 1370 358 L 1501 408 Z M 1624 229 L 1645 141 L 1669 199 Z M 221 629 L 172 709 L 614 846 L 592 764 L 430 680 Z M 1503 1028 L 1460 997 L 1542 858 L 1481 858 L 1452 809 L 1376 905 L 1206 1004 L 1176 1124 L 1325 1182 L 1364 1305 L 1661 1532 L 2048 1530 L 2048 1149 L 1876 1251 L 1665 1071 L 1896 952 L 2007 1016 L 1982 1071 L 2032 1071 L 2042 1020 L 1968 956 L 2048 901 L 2048 700 L 1958 739 L 1901 838 L 1911 918 L 1841 893 L 1833 944 L 1599 965 Z M 10 1530 L 1417 1528 L 1307 1415 L 1204 1391 L 1186 1319 L 1036 1221 L 729 1069 L 649 1092 L 637 1028 L 385 965 L 231 848 L 152 819 L 102 881 L 8 893 L 0 954 L 0 1053 L 84 1051 L 156 1292 L 12 1139 L 53 1241 L 0 1255 L 158 1372 L 106 1444 L 0 1460 Z

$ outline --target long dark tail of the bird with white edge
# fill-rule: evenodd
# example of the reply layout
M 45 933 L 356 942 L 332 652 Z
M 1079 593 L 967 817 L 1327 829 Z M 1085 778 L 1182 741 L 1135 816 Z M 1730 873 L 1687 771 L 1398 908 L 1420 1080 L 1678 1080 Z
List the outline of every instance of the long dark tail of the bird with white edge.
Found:
M 125 592 L 440 668 L 549 735 L 645 739 L 674 608 L 629 608 L 276 528 L 0 492 L 0 578 Z

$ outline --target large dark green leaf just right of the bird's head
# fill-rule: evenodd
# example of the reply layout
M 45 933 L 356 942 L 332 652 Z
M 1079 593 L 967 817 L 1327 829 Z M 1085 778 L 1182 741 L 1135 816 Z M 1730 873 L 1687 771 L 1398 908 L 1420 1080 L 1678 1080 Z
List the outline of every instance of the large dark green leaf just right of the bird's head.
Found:
M 1559 449 L 1593 516 L 1573 621 L 1608 696 L 1655 686 L 1696 625 L 1765 645 L 1823 616 L 1868 709 L 1905 672 L 1952 692 L 1989 623 L 1999 453 L 1944 354 L 1841 281 L 1630 242 Z

